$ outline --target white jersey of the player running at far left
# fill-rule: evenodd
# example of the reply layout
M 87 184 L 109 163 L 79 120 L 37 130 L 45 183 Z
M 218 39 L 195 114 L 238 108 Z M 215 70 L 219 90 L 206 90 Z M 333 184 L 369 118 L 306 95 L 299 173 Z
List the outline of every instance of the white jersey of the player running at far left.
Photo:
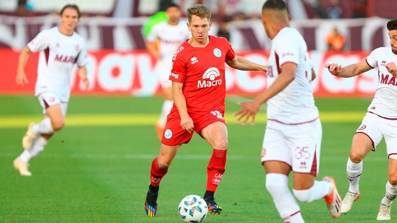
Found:
M 50 90 L 58 94 L 61 102 L 68 102 L 73 67 L 87 64 L 84 38 L 76 32 L 67 36 L 53 27 L 40 32 L 27 47 L 32 52 L 40 51 L 35 95 Z

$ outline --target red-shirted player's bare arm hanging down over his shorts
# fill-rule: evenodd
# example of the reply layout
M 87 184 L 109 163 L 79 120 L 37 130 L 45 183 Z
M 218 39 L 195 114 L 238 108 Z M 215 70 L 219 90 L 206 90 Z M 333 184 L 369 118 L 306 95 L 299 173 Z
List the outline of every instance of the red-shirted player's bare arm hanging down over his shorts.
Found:
M 193 120 L 187 113 L 186 99 L 182 91 L 183 83 L 173 81 L 172 84 L 174 103 L 180 115 L 180 126 L 190 133 L 193 131 L 194 125 Z

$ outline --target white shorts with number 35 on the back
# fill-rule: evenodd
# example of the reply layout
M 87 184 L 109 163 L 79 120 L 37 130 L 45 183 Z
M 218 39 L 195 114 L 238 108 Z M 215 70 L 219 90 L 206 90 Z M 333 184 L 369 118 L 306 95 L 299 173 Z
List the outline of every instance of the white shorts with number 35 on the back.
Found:
M 267 120 L 261 161 L 284 162 L 296 173 L 317 176 L 321 137 L 319 118 L 296 125 Z

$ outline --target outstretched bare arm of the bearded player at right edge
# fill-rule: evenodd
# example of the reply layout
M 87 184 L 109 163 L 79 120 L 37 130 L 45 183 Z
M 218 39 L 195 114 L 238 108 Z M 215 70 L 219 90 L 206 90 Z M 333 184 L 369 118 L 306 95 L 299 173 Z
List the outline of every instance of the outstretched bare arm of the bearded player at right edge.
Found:
M 365 60 L 344 68 L 339 64 L 326 64 L 324 67 L 327 68 L 332 75 L 340 77 L 352 77 L 373 69 Z

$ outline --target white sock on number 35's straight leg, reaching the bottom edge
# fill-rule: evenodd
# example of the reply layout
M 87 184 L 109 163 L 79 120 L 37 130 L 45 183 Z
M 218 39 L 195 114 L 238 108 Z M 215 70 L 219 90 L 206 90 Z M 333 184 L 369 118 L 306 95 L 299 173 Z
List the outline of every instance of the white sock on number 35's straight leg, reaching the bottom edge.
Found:
M 274 205 L 284 222 L 304 223 L 298 202 L 288 188 L 288 176 L 266 174 L 266 189 L 273 198 Z

